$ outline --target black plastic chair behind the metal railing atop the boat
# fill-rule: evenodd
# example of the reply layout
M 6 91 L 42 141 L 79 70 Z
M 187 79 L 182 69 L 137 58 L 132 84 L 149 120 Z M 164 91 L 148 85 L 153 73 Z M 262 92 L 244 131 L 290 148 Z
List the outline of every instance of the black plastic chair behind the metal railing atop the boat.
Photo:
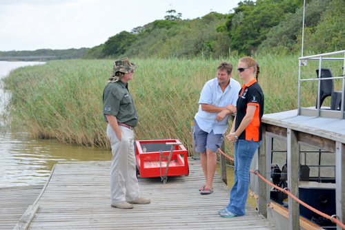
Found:
M 319 69 L 316 70 L 316 74 L 319 76 Z M 333 75 L 329 68 L 321 69 L 322 79 L 331 77 L 333 77 Z M 337 110 L 338 107 L 340 109 L 342 108 L 342 92 L 334 91 L 334 79 L 320 81 L 320 107 L 327 96 L 331 96 L 331 110 Z

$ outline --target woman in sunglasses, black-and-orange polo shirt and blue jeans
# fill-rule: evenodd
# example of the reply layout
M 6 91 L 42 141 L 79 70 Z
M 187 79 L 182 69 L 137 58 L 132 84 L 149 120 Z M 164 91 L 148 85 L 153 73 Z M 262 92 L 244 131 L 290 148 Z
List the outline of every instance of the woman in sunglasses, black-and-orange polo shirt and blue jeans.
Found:
M 264 114 L 264 93 L 257 76 L 259 65 L 250 56 L 239 60 L 237 72 L 244 80 L 237 99 L 237 114 L 230 134 L 226 136 L 235 143 L 235 184 L 230 192 L 230 202 L 219 210 L 223 217 L 244 216 L 249 189 L 250 163 L 262 142 L 261 118 Z

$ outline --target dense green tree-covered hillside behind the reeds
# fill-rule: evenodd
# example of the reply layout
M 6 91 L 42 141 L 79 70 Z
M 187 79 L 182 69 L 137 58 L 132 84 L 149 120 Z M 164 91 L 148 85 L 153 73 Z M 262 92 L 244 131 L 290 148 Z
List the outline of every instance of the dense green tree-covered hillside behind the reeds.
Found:
M 58 59 L 113 59 L 299 54 L 303 3 L 304 0 L 245 0 L 229 9 L 228 14 L 210 12 L 186 20 L 181 19 L 181 13 L 168 10 L 164 19 L 130 32 L 119 32 L 94 48 L 37 50 L 35 55 L 57 55 Z M 305 53 L 344 50 L 344 15 L 345 0 L 306 0 Z M 0 52 L 0 56 L 14 55 Z

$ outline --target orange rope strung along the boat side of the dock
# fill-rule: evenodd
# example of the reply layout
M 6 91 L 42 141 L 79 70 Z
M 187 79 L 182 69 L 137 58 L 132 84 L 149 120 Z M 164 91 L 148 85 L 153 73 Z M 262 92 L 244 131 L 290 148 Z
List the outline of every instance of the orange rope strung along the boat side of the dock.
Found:
M 218 149 L 221 154 L 223 154 L 224 156 L 226 156 L 227 158 L 229 158 L 230 160 L 234 161 L 233 158 L 230 158 L 230 156 L 224 154 L 223 151 L 221 151 L 221 149 Z M 299 198 L 295 197 L 293 194 L 290 193 L 290 191 L 288 191 L 287 188 L 282 189 L 281 187 L 278 187 L 277 185 L 274 185 L 273 183 L 271 183 L 270 181 L 266 180 L 266 178 L 264 178 L 263 176 L 261 176 L 257 171 L 253 171 L 253 170 L 249 170 L 251 173 L 259 176 L 259 178 L 261 178 L 262 180 L 264 180 L 266 183 L 268 183 L 268 185 L 275 187 L 275 189 L 278 189 L 279 191 L 284 192 L 285 194 L 288 194 L 288 196 L 290 196 L 291 198 L 293 198 L 293 200 L 296 200 L 297 202 L 299 202 L 299 204 L 303 205 L 304 207 L 306 207 L 307 209 L 310 209 L 311 211 L 319 214 L 319 216 L 323 216 L 324 218 L 327 218 L 328 220 L 331 220 L 333 223 L 338 224 L 340 227 L 342 227 L 343 229 L 345 229 L 345 224 L 343 224 L 342 222 L 340 222 L 340 220 L 337 219 L 336 215 L 333 216 L 329 216 L 326 213 L 323 213 L 322 211 L 319 211 L 313 207 L 311 207 L 310 205 L 307 205 L 305 202 L 303 202 L 302 200 L 299 200 Z

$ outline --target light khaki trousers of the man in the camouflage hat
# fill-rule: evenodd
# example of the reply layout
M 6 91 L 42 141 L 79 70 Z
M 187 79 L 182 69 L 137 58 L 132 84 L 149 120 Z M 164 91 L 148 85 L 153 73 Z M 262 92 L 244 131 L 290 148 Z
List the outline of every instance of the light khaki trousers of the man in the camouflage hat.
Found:
M 107 135 L 111 143 L 112 164 L 110 172 L 110 195 L 112 203 L 133 201 L 140 198 L 135 169 L 134 131 L 119 126 L 121 141 L 108 124 Z

